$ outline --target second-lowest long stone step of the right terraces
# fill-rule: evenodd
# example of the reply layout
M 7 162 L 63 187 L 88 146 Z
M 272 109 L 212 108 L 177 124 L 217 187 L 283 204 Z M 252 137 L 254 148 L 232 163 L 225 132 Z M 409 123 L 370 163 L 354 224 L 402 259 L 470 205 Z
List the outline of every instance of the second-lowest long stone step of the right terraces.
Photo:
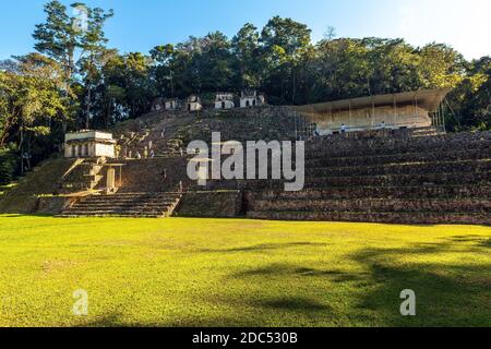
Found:
M 251 203 L 252 210 L 262 212 L 467 212 L 491 215 L 491 201 L 487 197 L 466 200 L 259 200 Z

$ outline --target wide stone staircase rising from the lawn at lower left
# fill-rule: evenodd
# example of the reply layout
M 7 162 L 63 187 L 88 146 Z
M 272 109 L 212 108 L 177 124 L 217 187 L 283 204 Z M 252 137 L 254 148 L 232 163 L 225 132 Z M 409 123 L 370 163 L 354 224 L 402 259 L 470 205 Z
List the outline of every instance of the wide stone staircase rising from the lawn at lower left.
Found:
M 181 193 L 117 193 L 86 196 L 64 209 L 59 217 L 170 217 Z

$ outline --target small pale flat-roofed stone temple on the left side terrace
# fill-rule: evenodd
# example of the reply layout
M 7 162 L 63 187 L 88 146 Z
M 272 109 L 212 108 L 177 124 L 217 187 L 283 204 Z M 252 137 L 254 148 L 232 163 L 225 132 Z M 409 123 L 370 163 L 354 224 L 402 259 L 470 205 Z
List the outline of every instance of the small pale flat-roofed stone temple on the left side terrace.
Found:
M 65 158 L 115 158 L 116 141 L 111 133 L 82 130 L 64 136 Z

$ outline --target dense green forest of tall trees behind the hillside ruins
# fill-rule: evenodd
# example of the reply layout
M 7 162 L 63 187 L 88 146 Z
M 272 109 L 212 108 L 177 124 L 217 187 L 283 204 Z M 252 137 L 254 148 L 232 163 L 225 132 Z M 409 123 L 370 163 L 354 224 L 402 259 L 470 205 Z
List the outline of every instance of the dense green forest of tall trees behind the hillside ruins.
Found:
M 248 23 L 231 38 L 191 36 L 148 52 L 108 47 L 112 11 L 59 1 L 45 5 L 32 53 L 0 62 L 0 181 L 8 182 L 59 149 L 71 129 L 107 129 L 149 110 L 159 96 L 255 88 L 271 104 L 453 87 L 451 131 L 491 129 L 491 57 L 467 61 L 444 44 L 338 38 L 330 29 L 312 43 L 310 28 L 275 16 Z

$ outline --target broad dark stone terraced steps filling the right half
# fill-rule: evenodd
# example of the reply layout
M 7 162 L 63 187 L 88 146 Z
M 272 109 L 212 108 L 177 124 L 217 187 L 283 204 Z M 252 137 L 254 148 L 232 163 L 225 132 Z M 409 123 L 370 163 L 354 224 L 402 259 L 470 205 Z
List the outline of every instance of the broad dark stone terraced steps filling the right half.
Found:
M 346 141 L 336 146 L 324 141 L 310 146 L 307 157 L 301 192 L 284 192 L 280 181 L 235 183 L 248 191 L 248 217 L 491 224 L 489 132 Z

